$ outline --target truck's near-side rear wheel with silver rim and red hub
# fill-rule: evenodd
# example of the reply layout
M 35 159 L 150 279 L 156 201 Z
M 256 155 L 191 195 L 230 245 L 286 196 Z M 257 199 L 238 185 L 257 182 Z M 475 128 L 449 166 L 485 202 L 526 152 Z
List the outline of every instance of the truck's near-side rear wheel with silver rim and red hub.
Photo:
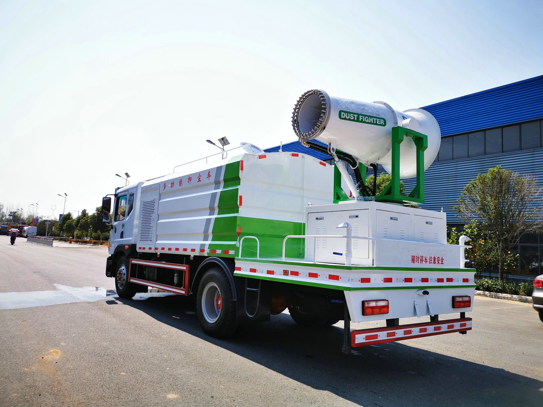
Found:
M 207 335 L 224 338 L 236 331 L 236 307 L 232 287 L 223 269 L 207 270 L 198 285 L 196 311 Z

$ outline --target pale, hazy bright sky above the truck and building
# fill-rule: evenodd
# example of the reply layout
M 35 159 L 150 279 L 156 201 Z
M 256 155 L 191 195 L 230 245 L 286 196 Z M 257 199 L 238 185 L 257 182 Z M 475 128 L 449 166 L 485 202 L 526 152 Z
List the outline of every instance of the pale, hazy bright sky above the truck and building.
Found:
M 92 213 L 206 139 L 294 141 L 307 90 L 411 109 L 541 75 L 542 43 L 541 1 L 2 0 L 0 202 Z

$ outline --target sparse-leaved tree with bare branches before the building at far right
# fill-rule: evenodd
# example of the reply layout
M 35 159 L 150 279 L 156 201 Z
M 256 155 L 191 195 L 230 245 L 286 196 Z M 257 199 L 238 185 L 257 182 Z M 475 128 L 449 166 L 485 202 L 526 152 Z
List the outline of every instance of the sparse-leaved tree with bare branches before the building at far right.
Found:
M 479 219 L 494 239 L 500 280 L 506 271 L 509 251 L 525 233 L 543 226 L 542 188 L 533 175 L 519 175 L 501 166 L 477 174 L 466 185 L 454 209 L 466 221 Z

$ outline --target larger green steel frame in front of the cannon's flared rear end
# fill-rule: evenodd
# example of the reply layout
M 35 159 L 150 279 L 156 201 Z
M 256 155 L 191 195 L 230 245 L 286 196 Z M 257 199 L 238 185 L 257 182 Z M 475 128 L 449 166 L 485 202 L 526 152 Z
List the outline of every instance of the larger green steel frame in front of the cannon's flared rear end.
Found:
M 416 147 L 416 185 L 409 195 L 400 195 L 400 144 L 405 137 L 413 139 Z M 428 137 L 401 126 L 392 128 L 392 177 L 388 185 L 375 197 L 379 202 L 424 203 L 424 151 Z

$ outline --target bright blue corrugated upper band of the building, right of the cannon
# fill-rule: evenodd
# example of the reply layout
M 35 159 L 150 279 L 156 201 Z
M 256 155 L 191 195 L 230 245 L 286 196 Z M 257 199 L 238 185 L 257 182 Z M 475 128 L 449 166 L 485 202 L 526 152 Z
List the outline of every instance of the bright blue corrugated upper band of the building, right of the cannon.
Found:
M 421 107 L 435 117 L 441 136 L 543 117 L 543 75 Z

